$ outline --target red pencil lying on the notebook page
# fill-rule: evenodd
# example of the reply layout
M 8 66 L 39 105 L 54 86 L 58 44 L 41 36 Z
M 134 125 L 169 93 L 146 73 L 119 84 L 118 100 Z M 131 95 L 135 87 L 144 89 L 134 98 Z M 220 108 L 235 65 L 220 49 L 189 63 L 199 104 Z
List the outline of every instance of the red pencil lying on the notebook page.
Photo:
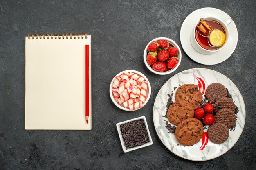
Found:
M 85 45 L 85 119 L 89 118 L 89 45 Z

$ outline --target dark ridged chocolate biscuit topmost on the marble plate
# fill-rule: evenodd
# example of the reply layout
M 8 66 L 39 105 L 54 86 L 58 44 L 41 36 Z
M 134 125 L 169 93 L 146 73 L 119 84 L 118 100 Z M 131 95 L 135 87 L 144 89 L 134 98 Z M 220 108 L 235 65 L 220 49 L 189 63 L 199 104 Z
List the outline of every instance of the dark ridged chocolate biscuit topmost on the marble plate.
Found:
M 210 102 L 215 102 L 221 97 L 227 97 L 227 89 L 220 83 L 212 83 L 206 88 L 205 96 Z

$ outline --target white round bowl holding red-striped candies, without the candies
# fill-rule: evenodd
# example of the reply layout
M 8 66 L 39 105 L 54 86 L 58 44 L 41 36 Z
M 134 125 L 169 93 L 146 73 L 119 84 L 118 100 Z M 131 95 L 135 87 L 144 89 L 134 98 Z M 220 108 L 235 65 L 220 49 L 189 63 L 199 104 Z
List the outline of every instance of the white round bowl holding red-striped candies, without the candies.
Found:
M 148 78 L 146 78 L 146 76 L 144 74 L 142 74 L 141 72 L 135 71 L 135 70 L 124 70 L 122 72 L 119 72 L 116 76 L 120 76 L 121 74 L 123 74 L 123 72 L 133 72 L 133 73 L 138 74 L 139 76 L 143 77 L 146 81 L 148 81 Z M 110 83 L 110 87 L 109 87 L 109 94 L 110 94 L 110 98 L 111 98 L 112 102 L 117 107 L 119 107 L 120 109 L 125 110 L 125 111 L 135 111 L 135 110 L 138 110 L 138 109 L 141 109 L 142 107 L 144 107 L 147 104 L 147 102 L 150 98 L 150 94 L 151 94 L 151 86 L 150 86 L 149 81 L 148 81 L 148 90 L 147 90 L 147 94 L 146 94 L 146 101 L 142 104 L 141 108 L 138 108 L 138 109 L 135 109 L 135 110 L 130 110 L 129 108 L 125 108 L 122 104 L 119 104 L 114 98 L 114 95 L 113 95 L 113 92 L 112 92 L 112 83 L 115 80 L 116 76 L 114 76 L 113 80 Z

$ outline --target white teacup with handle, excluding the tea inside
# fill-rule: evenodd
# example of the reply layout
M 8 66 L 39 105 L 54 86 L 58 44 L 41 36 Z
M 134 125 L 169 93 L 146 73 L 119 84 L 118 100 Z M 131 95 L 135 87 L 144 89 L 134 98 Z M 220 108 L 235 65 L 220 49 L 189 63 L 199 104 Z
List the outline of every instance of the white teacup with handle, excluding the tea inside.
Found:
M 214 52 L 222 50 L 227 45 L 227 43 L 229 42 L 229 28 L 227 26 L 231 22 L 233 22 L 233 20 L 231 18 L 229 18 L 225 22 L 223 22 L 222 20 L 219 20 L 218 18 L 214 18 L 214 17 L 204 18 L 204 20 L 213 20 L 213 21 L 220 23 L 220 25 L 222 25 L 223 28 L 225 29 L 225 33 L 226 33 L 226 41 L 220 48 L 218 48 L 216 50 L 207 50 L 205 48 L 202 48 L 202 46 L 200 46 L 200 44 L 198 44 L 198 42 L 195 39 L 195 29 L 196 29 L 198 22 L 195 24 L 195 27 L 191 33 L 191 38 L 190 38 L 191 44 L 192 44 L 193 48 L 195 48 L 195 50 L 197 50 L 201 54 L 209 55 L 209 54 L 213 54 Z

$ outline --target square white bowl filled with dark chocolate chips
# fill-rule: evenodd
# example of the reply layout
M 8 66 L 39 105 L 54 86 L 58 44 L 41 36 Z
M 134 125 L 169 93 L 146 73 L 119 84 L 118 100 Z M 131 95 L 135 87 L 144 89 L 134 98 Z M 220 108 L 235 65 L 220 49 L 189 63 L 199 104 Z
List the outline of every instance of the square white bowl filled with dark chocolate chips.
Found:
M 125 153 L 153 144 L 145 116 L 117 123 L 117 131 Z

